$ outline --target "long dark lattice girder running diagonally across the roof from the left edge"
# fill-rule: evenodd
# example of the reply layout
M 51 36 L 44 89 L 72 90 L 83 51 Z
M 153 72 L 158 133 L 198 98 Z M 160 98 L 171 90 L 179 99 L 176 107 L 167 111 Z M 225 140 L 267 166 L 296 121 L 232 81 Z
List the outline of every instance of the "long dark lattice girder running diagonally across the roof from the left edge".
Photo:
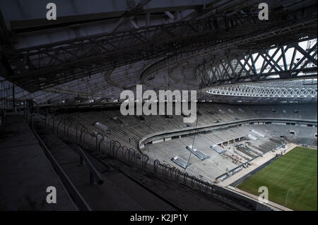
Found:
M 233 6 L 237 6 L 237 2 Z M 230 1 L 226 6 L 228 4 Z M 6 78 L 34 92 L 144 59 L 174 56 L 172 59 L 178 62 L 202 51 L 205 54 L 271 37 L 297 36 L 297 32 L 317 27 L 317 11 L 312 7 L 276 11 L 272 16 L 269 22 L 258 20 L 257 13 L 237 11 L 227 17 L 232 23 L 224 24 L 224 15 L 218 12 L 200 20 L 90 35 L 8 51 L 3 54 L 13 74 Z M 166 65 L 164 61 L 163 66 Z M 149 75 L 147 73 L 143 73 L 141 80 Z

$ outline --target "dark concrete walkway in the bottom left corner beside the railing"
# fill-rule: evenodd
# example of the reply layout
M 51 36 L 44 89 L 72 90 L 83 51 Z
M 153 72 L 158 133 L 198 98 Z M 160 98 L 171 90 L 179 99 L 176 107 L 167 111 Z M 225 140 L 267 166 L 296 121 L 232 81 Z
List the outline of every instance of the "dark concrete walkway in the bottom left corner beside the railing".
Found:
M 77 210 L 20 114 L 0 126 L 0 210 Z M 57 203 L 47 203 L 48 186 Z

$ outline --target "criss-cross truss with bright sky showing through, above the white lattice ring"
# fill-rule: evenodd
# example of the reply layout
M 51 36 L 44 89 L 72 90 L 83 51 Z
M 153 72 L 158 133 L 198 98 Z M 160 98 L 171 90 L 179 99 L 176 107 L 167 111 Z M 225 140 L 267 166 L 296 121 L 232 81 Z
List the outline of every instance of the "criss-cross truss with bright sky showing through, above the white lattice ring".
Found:
M 242 58 L 233 59 L 233 56 L 228 55 L 218 61 L 212 60 L 196 68 L 196 77 L 201 87 L 261 80 L 314 78 L 317 77 L 317 39 L 302 39 L 257 53 L 251 51 Z

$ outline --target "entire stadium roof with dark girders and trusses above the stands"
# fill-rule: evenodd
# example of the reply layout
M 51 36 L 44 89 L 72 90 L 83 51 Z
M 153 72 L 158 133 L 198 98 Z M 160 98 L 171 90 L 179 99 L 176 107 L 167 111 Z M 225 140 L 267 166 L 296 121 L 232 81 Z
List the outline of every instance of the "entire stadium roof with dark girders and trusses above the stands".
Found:
M 202 101 L 274 101 L 205 92 L 317 78 L 317 1 L 266 1 L 269 20 L 258 18 L 261 2 L 56 0 L 57 20 L 46 20 L 45 1 L 0 1 L 0 75 L 38 103 L 113 102 L 137 84 L 204 90 Z M 317 101 L 317 89 L 299 96 L 288 102 Z

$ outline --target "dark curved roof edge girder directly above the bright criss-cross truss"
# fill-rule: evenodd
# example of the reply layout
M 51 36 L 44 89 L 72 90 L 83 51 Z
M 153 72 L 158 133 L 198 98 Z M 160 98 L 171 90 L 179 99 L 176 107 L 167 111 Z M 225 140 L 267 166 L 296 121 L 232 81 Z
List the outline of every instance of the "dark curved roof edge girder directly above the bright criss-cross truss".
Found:
M 277 42 L 286 43 L 295 41 L 295 39 L 298 39 L 299 37 L 304 37 L 306 31 L 317 28 L 317 18 L 301 19 L 304 14 L 300 13 L 298 15 L 298 13 L 300 13 L 300 11 L 287 13 L 283 17 L 277 17 L 277 20 L 271 20 L 273 21 L 271 25 L 265 25 L 255 18 L 251 19 L 251 17 L 245 17 L 236 24 L 239 25 L 239 27 L 218 28 L 218 32 L 211 36 L 205 36 L 206 45 L 201 48 L 197 45 L 196 51 L 191 51 L 191 49 L 189 49 L 190 46 L 188 46 L 188 51 L 179 51 L 175 54 L 172 53 L 170 56 L 166 56 L 149 65 L 142 71 L 140 75 L 141 80 L 145 83 L 145 80 L 155 73 L 155 71 L 166 68 L 167 65 L 189 61 L 196 56 L 206 55 L 206 58 L 208 58 L 209 55 L 216 54 L 216 52 L 225 49 L 227 51 L 242 49 L 243 54 L 246 49 L 267 49 L 271 45 L 277 44 Z M 281 20 L 282 18 L 287 19 L 288 16 L 290 17 L 290 21 L 287 22 L 284 20 L 283 22 Z M 298 18 L 298 20 L 295 20 L 295 18 Z M 242 25 L 241 23 L 248 25 L 240 27 L 240 25 Z M 213 23 L 213 25 L 215 26 L 216 23 Z M 302 35 L 300 35 L 301 33 Z M 312 35 L 312 37 L 317 37 L 317 34 Z

